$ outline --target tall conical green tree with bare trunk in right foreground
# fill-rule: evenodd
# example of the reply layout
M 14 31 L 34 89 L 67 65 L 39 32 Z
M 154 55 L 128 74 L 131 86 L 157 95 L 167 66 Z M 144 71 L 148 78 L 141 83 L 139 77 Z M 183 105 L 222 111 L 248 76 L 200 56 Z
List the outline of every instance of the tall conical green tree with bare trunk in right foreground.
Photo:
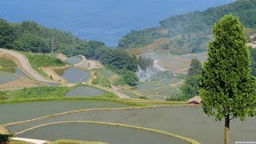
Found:
M 232 14 L 214 25 L 214 42 L 201 77 L 202 108 L 216 120 L 225 118 L 225 144 L 229 143 L 230 120 L 255 114 L 255 78 L 250 74 L 250 52 L 244 27 Z

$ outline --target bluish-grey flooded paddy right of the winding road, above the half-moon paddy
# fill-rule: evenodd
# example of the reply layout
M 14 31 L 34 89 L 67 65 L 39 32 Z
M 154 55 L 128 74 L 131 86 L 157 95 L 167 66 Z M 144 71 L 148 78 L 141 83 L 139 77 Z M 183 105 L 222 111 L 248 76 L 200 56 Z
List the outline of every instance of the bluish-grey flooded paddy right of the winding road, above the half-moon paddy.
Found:
M 86 70 L 81 70 L 75 67 L 68 67 L 66 69 L 58 69 L 54 70 L 57 74 L 62 76 L 62 78 L 65 78 L 67 82 L 70 83 L 79 83 L 80 77 L 82 82 L 87 82 L 87 80 L 90 78 L 90 72 Z

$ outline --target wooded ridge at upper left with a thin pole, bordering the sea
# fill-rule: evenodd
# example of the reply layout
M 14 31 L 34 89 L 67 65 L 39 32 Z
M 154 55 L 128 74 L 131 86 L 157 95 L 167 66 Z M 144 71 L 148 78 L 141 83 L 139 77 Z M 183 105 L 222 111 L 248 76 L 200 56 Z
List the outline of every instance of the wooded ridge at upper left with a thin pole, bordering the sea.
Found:
M 1 32 L 5 32 L 0 34 L 4 36 L 0 46 L 8 49 L 34 53 L 50 53 L 53 50 L 69 54 L 70 50 L 82 42 L 70 32 L 39 26 L 32 21 L 23 21 L 15 25 L 3 19 L 0 22 Z

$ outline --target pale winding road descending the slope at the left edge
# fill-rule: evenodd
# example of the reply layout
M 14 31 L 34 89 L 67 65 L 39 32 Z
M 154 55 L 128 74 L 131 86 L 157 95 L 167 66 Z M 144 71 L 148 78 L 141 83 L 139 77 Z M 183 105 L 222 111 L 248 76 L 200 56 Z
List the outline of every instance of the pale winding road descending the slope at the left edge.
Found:
M 2 48 L 0 48 L 0 51 L 6 55 L 9 55 L 10 58 L 13 58 L 13 60 L 17 62 L 19 66 L 21 66 L 22 70 L 25 70 L 26 74 L 30 75 L 30 77 L 34 78 L 39 82 L 51 82 L 50 80 L 43 78 L 42 75 L 38 74 L 34 69 L 32 69 L 27 58 L 22 54 L 19 54 L 18 52 L 15 52 L 12 50 L 2 49 Z

